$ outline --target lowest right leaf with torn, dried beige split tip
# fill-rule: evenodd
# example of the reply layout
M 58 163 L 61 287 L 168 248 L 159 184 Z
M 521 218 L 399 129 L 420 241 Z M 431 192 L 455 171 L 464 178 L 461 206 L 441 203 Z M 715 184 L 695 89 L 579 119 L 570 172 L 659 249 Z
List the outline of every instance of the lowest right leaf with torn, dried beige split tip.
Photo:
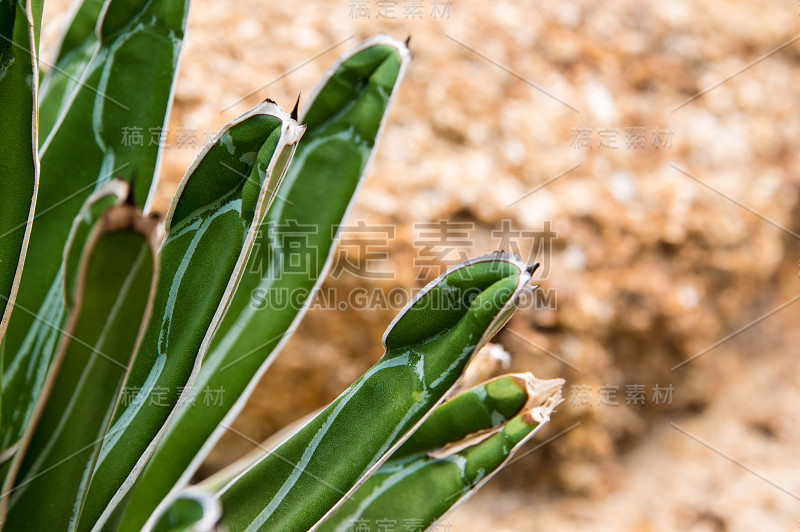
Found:
M 503 376 L 448 401 L 318 530 L 380 530 L 381 522 L 428 529 L 549 421 L 563 383 Z

